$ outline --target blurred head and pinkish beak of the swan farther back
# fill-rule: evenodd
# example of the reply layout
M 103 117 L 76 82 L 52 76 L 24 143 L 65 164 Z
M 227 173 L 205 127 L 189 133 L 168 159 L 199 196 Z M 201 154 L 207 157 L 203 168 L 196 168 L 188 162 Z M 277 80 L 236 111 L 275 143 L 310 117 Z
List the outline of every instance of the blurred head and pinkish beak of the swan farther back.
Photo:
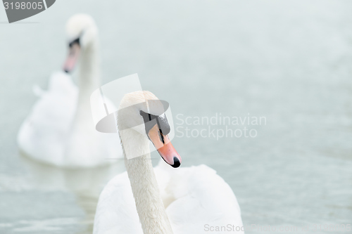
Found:
M 66 23 L 68 58 L 63 65 L 65 72 L 71 72 L 80 58 L 80 52 L 87 50 L 98 39 L 98 28 L 90 15 L 76 14 Z

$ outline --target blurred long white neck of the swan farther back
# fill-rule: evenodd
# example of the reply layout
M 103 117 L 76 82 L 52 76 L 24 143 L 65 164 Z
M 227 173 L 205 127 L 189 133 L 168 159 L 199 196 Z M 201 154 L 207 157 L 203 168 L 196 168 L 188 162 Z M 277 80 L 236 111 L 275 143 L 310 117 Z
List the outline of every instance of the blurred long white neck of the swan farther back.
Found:
M 98 41 L 93 41 L 87 48 L 82 49 L 80 54 L 79 70 L 79 94 L 77 110 L 73 126 L 84 126 L 92 124 L 92 112 L 90 108 L 90 95 L 100 86 L 100 60 Z

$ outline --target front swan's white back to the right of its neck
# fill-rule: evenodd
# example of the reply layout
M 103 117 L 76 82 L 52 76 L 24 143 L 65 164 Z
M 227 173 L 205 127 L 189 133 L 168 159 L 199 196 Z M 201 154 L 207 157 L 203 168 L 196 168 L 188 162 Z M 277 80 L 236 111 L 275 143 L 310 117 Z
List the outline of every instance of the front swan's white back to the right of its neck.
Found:
M 164 195 L 175 199 L 166 208 L 174 233 L 208 233 L 207 226 L 243 226 L 237 199 L 215 170 L 204 164 L 163 169 L 170 175 Z

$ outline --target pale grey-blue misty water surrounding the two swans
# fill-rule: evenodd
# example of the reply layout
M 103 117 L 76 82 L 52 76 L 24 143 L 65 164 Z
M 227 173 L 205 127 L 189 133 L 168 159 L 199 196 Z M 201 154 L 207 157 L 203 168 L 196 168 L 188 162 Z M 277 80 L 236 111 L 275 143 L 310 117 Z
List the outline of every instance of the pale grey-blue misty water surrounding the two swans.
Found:
M 266 117 L 256 138 L 173 140 L 182 166 L 207 164 L 230 184 L 245 225 L 351 223 L 351 11 L 348 0 L 59 0 L 9 25 L 0 6 L 0 233 L 91 232 L 118 171 L 45 167 L 15 143 L 32 85 L 46 89 L 63 64 L 74 13 L 99 26 L 103 84 L 137 72 L 174 118 Z

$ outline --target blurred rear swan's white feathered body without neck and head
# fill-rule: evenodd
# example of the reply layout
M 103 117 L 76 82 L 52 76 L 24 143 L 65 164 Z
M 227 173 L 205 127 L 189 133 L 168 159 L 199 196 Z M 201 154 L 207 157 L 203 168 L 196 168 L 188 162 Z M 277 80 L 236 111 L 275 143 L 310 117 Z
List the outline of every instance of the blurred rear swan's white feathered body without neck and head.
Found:
M 51 75 L 47 91 L 37 88 L 39 100 L 18 133 L 21 151 L 59 167 L 96 167 L 112 162 L 108 158 L 121 157 L 118 134 L 96 131 L 90 110 L 74 124 L 78 92 L 64 72 Z

